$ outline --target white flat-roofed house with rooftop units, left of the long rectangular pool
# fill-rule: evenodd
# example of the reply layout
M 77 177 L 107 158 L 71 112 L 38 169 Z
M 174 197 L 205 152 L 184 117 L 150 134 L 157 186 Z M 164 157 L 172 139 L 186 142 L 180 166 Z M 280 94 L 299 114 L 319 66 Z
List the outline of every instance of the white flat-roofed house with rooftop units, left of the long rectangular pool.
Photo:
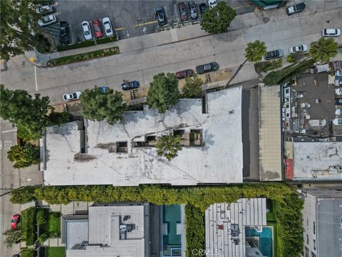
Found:
M 67 249 L 66 256 L 150 256 L 148 208 L 143 203 L 90 206 L 88 242 L 76 243 Z

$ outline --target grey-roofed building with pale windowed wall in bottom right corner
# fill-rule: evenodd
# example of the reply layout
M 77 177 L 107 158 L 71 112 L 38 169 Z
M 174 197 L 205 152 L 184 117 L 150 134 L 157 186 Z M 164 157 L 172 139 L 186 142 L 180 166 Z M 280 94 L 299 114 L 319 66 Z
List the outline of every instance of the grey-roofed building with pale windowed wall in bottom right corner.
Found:
M 304 193 L 304 257 L 342 256 L 342 189 Z

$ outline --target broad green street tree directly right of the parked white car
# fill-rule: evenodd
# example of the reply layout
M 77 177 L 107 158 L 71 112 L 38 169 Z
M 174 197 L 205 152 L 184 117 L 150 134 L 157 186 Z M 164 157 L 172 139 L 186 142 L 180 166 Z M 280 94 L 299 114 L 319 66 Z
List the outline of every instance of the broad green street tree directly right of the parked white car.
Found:
M 106 120 L 113 125 L 120 121 L 126 109 L 123 104 L 122 94 L 113 89 L 103 92 L 95 86 L 94 89 L 86 89 L 80 96 L 82 115 L 91 121 Z

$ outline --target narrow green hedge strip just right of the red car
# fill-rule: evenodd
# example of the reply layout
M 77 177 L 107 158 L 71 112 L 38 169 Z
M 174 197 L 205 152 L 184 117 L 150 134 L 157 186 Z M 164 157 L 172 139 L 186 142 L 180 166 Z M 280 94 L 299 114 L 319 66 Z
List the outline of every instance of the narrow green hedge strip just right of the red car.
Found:
M 36 241 L 36 208 L 30 207 L 21 211 L 21 229 L 22 235 L 26 241 L 26 246 L 32 246 Z

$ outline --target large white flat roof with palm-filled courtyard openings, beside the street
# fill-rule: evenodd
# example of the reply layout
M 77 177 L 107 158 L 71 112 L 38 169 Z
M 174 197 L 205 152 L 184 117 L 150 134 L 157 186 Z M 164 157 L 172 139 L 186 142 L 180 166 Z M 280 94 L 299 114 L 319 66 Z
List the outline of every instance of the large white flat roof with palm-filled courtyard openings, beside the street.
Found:
M 85 125 L 86 132 L 77 122 L 46 129 L 46 185 L 242 183 L 242 87 L 209 93 L 204 103 L 180 99 L 165 114 L 145 106 L 113 126 Z M 169 132 L 179 133 L 183 144 L 171 161 L 154 147 Z

